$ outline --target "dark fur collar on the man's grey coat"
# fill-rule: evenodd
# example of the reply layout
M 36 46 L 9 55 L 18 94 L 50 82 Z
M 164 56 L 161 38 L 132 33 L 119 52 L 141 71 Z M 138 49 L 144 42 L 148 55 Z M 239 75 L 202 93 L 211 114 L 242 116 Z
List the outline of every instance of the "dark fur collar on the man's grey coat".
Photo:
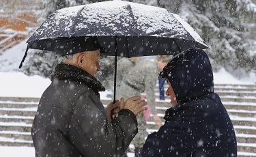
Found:
M 51 74 L 51 81 L 54 78 L 59 80 L 68 80 L 81 82 L 98 94 L 99 91 L 105 91 L 105 88 L 94 76 L 91 76 L 88 72 L 76 66 L 69 64 L 59 63 L 55 66 L 53 73 Z

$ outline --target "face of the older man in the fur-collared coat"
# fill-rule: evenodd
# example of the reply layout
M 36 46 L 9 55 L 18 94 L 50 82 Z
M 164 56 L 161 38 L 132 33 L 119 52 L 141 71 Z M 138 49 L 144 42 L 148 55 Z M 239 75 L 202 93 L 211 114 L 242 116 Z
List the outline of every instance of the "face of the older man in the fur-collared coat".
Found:
M 86 51 L 82 55 L 79 59 L 80 68 L 95 76 L 100 71 L 100 51 Z

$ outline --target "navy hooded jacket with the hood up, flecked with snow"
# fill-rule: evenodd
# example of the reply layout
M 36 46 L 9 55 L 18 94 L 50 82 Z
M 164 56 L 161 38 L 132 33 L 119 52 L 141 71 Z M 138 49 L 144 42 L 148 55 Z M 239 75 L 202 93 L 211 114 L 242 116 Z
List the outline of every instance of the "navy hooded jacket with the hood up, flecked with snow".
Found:
M 237 156 L 236 134 L 218 94 L 212 66 L 197 48 L 175 56 L 159 74 L 173 87 L 178 104 L 165 124 L 147 137 L 143 156 Z

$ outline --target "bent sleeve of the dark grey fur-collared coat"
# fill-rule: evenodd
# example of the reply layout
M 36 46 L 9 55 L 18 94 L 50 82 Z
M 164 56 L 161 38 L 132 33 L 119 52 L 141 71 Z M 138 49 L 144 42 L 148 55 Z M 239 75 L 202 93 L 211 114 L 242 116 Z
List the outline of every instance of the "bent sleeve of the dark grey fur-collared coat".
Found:
M 122 156 L 137 132 L 137 119 L 130 110 L 119 111 L 109 123 L 94 95 L 80 96 L 70 117 L 70 141 L 84 156 Z

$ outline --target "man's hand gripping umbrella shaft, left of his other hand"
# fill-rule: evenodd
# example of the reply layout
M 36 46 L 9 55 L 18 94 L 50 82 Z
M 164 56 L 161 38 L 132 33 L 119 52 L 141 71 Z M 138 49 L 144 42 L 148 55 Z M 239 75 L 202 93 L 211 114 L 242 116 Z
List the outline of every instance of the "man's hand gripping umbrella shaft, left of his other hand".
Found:
M 108 119 L 109 123 L 112 122 L 112 119 L 114 119 L 117 116 L 117 113 L 120 111 L 120 102 L 119 100 L 115 100 L 115 104 L 111 102 L 106 106 L 106 118 Z M 113 111 L 113 115 L 111 118 L 111 111 Z

